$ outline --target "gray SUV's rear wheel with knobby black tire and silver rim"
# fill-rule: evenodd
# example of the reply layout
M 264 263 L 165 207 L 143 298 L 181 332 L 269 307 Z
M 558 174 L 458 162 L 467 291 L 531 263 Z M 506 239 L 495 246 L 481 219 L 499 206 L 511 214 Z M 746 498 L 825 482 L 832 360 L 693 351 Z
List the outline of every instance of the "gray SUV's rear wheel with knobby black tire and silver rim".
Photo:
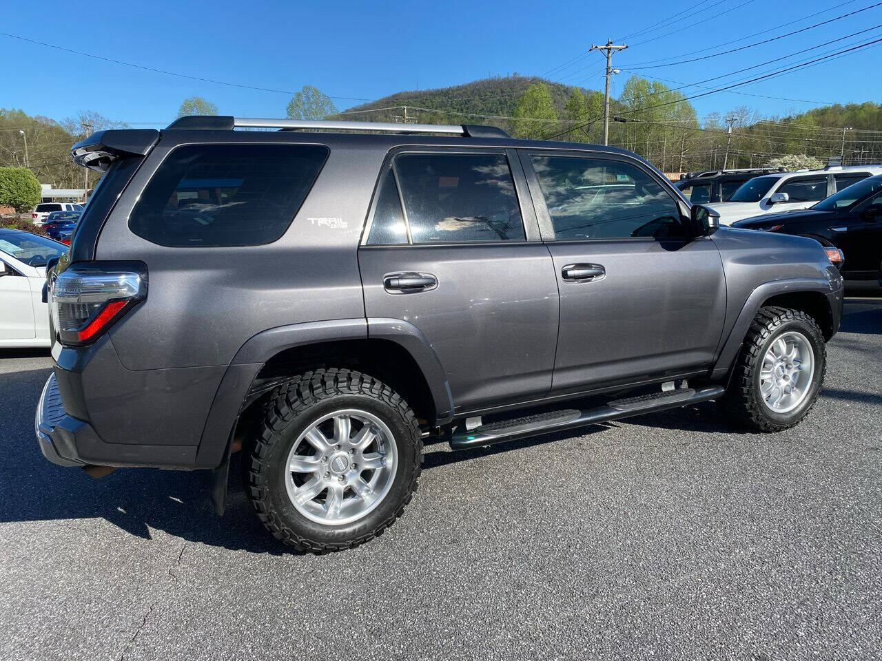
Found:
M 337 551 L 394 523 L 421 460 L 415 415 L 400 395 L 369 375 L 322 369 L 273 393 L 246 458 L 246 490 L 276 538 Z

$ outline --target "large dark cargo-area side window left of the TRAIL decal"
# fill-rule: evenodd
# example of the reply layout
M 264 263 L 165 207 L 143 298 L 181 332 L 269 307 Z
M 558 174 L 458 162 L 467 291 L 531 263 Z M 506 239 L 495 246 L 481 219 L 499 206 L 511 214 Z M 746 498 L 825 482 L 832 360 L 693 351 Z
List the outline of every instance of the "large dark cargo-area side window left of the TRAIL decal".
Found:
M 189 145 L 168 154 L 129 219 L 169 247 L 276 241 L 325 163 L 322 145 Z

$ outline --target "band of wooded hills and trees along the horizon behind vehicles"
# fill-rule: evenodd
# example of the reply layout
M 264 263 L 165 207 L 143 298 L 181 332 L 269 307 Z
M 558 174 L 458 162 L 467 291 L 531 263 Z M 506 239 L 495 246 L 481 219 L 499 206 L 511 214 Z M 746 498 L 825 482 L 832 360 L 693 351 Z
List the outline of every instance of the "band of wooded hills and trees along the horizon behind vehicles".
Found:
M 213 110 L 211 101 L 193 97 L 179 114 L 191 105 Z M 491 124 L 518 137 L 599 143 L 602 106 L 599 92 L 515 74 L 395 93 L 335 115 L 326 115 L 331 100 L 307 86 L 287 111 L 312 119 Z M 609 144 L 638 152 L 665 172 L 762 166 L 791 154 L 815 157 L 816 163 L 838 155 L 849 164 L 882 161 L 882 106 L 875 102 L 772 118 L 743 106 L 699 118 L 682 93 L 632 76 L 610 106 Z M 71 162 L 71 144 L 93 130 L 123 126 L 94 112 L 56 122 L 0 108 L 0 167 L 28 165 L 43 183 L 81 188 L 84 171 Z M 89 176 L 93 185 L 97 175 Z

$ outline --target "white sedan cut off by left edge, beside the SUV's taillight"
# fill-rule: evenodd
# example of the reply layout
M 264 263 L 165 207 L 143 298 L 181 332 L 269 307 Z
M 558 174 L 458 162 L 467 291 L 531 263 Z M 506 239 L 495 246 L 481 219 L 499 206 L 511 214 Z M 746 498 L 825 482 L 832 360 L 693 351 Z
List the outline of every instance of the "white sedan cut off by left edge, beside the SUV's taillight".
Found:
M 0 228 L 0 347 L 50 345 L 46 263 L 65 250 L 45 236 Z

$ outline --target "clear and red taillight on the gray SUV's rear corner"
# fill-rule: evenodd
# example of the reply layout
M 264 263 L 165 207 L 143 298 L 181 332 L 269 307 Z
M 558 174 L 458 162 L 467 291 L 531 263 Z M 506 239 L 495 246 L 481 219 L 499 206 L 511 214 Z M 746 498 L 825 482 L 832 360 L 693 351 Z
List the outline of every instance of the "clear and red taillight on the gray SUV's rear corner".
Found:
M 49 280 L 52 325 L 63 345 L 87 345 L 146 298 L 138 264 L 75 264 Z

